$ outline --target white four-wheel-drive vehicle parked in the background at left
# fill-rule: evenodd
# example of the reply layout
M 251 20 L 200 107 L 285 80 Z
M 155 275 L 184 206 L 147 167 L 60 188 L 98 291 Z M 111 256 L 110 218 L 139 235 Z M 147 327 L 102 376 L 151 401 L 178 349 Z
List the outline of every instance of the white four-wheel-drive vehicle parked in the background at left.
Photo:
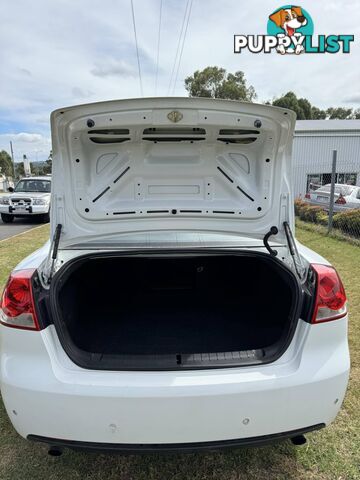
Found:
M 51 178 L 27 177 L 15 188 L 9 187 L 10 195 L 0 197 L 0 213 L 4 223 L 13 222 L 15 217 L 37 217 L 50 221 Z

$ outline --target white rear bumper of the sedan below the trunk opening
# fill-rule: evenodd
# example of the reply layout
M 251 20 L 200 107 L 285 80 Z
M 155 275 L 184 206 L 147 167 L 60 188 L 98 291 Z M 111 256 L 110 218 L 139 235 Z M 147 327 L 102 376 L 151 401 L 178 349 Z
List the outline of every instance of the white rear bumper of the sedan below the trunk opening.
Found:
M 268 365 L 163 372 L 85 370 L 66 356 L 52 327 L 0 329 L 8 415 L 23 437 L 46 442 L 121 450 L 293 436 L 329 424 L 348 382 L 347 318 L 300 321 L 288 350 Z

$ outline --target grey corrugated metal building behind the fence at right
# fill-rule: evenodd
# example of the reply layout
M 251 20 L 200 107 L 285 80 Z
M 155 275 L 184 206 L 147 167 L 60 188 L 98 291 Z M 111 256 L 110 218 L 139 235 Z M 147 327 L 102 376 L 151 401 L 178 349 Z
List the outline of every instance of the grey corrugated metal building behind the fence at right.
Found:
M 298 120 L 293 145 L 294 192 L 304 197 L 331 181 L 337 150 L 336 183 L 360 185 L 360 120 Z

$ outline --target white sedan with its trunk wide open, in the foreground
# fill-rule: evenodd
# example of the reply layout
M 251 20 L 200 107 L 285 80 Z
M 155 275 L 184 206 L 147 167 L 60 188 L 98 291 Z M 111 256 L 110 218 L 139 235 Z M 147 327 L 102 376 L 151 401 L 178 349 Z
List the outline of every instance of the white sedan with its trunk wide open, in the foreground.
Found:
M 294 240 L 294 124 L 205 98 L 52 113 L 52 242 L 0 310 L 20 435 L 52 454 L 186 451 L 299 444 L 334 420 L 346 296 Z

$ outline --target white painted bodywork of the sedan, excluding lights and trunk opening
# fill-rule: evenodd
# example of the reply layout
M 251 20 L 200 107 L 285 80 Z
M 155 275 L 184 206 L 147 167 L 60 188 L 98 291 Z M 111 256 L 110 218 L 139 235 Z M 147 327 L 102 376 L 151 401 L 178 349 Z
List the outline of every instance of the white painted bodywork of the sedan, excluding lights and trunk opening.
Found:
M 169 143 L 160 150 L 158 144 L 149 146 L 142 140 L 145 128 L 171 127 L 168 114 L 173 111 L 183 115 L 181 127 L 206 129 L 201 145 Z M 88 127 L 89 119 L 94 127 Z M 258 144 L 229 147 L 217 140 L 219 127 L 239 128 L 240 124 L 248 130 L 259 119 Z M 120 146 L 92 144 L 88 138 L 92 128 L 116 130 L 126 125 L 130 140 Z M 266 252 L 263 237 L 271 226 L 279 230 L 271 237 L 271 245 L 288 268 L 294 269 L 283 226 L 289 222 L 294 227 L 293 127 L 290 111 L 210 99 L 139 99 L 56 111 L 52 115 L 52 232 L 57 224 L 63 225 L 57 259 L 50 258 L 47 243 L 15 271 L 36 268 L 49 278 L 52 266 L 60 270 L 70 259 L 94 251 L 134 249 L 145 237 L 149 249 L 155 244 L 177 248 L 190 234 L 199 247 L 215 235 L 224 248 Z M 119 162 L 104 166 L 99 159 L 114 152 Z M 239 163 L 229 163 L 234 152 L 251 158 L 251 175 Z M 232 172 L 233 182 L 251 192 L 254 201 L 235 194 L 233 183 L 219 174 L 219 161 L 227 173 Z M 129 165 L 135 173 L 122 188 L 110 185 Z M 189 165 L 193 173 L 187 171 Z M 145 185 L 140 195 L 138 183 Z M 211 199 L 207 183 L 215 184 Z M 109 195 L 94 202 L 109 185 Z M 154 188 L 159 185 L 160 189 Z M 165 213 L 146 214 L 161 206 Z M 135 213 L 120 219 L 113 215 L 120 208 Z M 176 214 L 171 213 L 173 209 Z M 180 213 L 186 209 L 201 213 Z M 230 210 L 236 215 L 216 213 Z M 229 242 L 235 244 L 229 247 Z M 329 265 L 301 244 L 297 248 L 305 269 L 313 263 Z M 53 325 L 42 331 L 0 325 L 1 392 L 20 435 L 47 437 L 54 444 L 56 439 L 66 439 L 134 448 L 139 444 L 183 445 L 328 425 L 340 409 L 348 382 L 347 321 L 347 315 L 319 324 L 300 319 L 285 353 L 269 364 L 146 372 L 79 367 L 65 353 Z

